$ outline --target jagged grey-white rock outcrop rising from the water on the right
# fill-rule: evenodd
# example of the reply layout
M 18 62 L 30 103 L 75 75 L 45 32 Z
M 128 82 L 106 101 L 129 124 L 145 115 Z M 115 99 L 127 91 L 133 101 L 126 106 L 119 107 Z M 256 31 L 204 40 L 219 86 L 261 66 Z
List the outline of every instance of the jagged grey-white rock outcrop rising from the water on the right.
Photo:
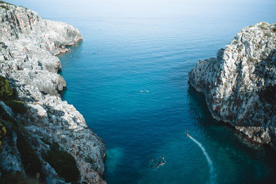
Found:
M 216 58 L 195 65 L 189 83 L 215 119 L 276 148 L 276 24 L 243 28 Z

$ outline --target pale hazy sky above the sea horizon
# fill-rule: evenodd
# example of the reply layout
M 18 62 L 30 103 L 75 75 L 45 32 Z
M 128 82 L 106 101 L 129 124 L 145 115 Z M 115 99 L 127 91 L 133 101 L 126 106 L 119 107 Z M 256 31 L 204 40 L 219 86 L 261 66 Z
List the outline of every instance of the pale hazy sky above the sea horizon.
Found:
M 25 6 L 42 16 L 51 12 L 52 17 L 61 14 L 77 17 L 184 17 L 184 16 L 244 16 L 244 9 L 259 9 L 276 22 L 276 0 L 11 0 L 17 6 Z M 48 10 L 48 12 L 44 12 Z M 246 11 L 248 12 L 248 11 Z M 249 11 L 250 12 L 250 11 Z M 263 11 L 264 12 L 264 11 Z M 262 15 L 260 15 L 262 16 Z M 265 21 L 265 20 L 264 20 Z

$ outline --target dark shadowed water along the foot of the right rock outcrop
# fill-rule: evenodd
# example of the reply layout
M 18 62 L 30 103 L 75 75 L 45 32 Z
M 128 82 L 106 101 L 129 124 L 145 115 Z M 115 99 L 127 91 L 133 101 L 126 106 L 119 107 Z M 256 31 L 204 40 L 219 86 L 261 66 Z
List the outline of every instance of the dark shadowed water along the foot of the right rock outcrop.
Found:
M 188 133 L 204 147 L 213 162 L 215 183 L 225 180 L 221 179 L 225 173 L 220 173 L 225 167 L 228 168 L 226 175 L 229 182 L 237 182 L 235 178 L 231 178 L 235 175 L 240 176 L 245 183 L 275 181 L 276 152 L 269 145 L 255 143 L 229 123 L 213 119 L 205 95 L 197 92 L 191 85 L 187 95 L 188 113 L 195 119 L 195 127 L 188 130 Z M 267 172 L 262 172 L 264 170 Z M 252 177 L 251 174 L 255 176 Z

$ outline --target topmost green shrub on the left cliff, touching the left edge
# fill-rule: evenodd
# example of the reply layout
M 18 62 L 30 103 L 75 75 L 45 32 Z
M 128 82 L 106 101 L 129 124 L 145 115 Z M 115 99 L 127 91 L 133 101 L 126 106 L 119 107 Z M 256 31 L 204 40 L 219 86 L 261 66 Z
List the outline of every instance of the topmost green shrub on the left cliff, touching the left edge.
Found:
M 0 100 L 12 100 L 15 94 L 15 90 L 10 86 L 10 81 L 0 76 Z

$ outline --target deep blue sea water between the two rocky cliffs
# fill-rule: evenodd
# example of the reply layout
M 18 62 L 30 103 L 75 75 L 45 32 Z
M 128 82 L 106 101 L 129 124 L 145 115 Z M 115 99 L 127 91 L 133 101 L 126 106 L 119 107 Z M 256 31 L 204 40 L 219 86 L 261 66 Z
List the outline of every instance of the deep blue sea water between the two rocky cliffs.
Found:
M 81 3 L 21 4 L 83 34 L 59 57 L 63 100 L 104 139 L 108 183 L 273 183 L 275 152 L 215 121 L 204 96 L 188 85 L 199 59 L 215 57 L 247 25 L 276 21 L 274 1 L 254 2 L 198 5 L 203 12 L 188 6 L 189 13 L 180 4 L 168 16 L 129 17 L 90 15 L 92 5 Z M 166 164 L 152 169 L 150 161 L 161 155 Z

